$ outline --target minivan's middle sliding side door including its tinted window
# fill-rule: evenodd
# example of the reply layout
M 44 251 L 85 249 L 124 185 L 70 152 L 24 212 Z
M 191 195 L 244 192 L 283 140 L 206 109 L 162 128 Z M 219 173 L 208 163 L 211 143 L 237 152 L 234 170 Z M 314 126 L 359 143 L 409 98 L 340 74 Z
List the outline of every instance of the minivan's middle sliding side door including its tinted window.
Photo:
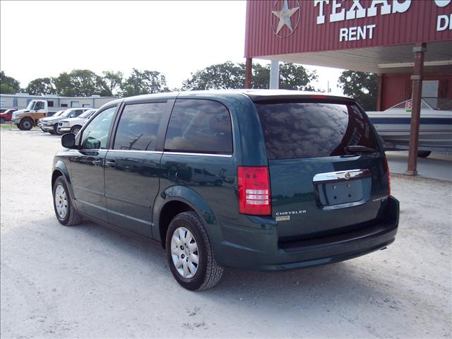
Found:
M 167 102 L 126 104 L 105 157 L 108 222 L 152 237 L 152 207 L 159 189 L 157 131 Z

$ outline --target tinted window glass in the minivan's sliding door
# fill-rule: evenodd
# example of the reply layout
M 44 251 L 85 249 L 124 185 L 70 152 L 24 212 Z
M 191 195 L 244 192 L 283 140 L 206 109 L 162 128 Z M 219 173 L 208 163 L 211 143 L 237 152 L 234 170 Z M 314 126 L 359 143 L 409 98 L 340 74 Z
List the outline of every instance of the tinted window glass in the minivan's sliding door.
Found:
M 154 150 L 166 102 L 127 105 L 119 119 L 115 150 Z

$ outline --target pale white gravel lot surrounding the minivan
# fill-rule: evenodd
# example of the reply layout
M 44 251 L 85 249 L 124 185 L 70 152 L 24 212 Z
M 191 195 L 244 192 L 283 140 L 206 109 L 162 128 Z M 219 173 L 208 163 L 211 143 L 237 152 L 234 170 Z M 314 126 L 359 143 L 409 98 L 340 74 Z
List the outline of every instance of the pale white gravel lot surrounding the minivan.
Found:
M 385 251 L 284 273 L 227 269 L 214 289 L 189 292 L 160 244 L 59 225 L 59 137 L 0 138 L 1 338 L 452 336 L 451 182 L 391 178 L 400 230 Z

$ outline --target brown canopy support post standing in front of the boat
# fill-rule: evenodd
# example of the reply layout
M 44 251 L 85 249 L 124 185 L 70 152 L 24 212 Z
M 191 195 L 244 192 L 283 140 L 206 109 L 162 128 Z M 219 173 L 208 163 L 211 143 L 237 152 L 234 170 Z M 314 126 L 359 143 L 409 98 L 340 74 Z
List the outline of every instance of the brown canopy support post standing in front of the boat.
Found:
M 408 153 L 408 175 L 417 175 L 417 148 L 419 145 L 419 125 L 422 103 L 422 76 L 424 73 L 424 52 L 427 50 L 425 43 L 418 43 L 413 47 L 415 52 L 415 69 L 412 80 L 412 111 L 410 129 L 410 151 Z

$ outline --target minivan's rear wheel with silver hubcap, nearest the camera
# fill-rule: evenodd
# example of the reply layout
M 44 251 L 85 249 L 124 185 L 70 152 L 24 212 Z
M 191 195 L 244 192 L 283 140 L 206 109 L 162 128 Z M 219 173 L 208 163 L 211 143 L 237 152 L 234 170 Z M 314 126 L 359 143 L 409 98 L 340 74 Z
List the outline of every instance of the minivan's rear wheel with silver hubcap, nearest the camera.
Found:
M 220 281 L 223 268 L 213 257 L 206 227 L 196 213 L 180 213 L 172 220 L 166 251 L 174 279 L 187 290 L 206 290 Z

